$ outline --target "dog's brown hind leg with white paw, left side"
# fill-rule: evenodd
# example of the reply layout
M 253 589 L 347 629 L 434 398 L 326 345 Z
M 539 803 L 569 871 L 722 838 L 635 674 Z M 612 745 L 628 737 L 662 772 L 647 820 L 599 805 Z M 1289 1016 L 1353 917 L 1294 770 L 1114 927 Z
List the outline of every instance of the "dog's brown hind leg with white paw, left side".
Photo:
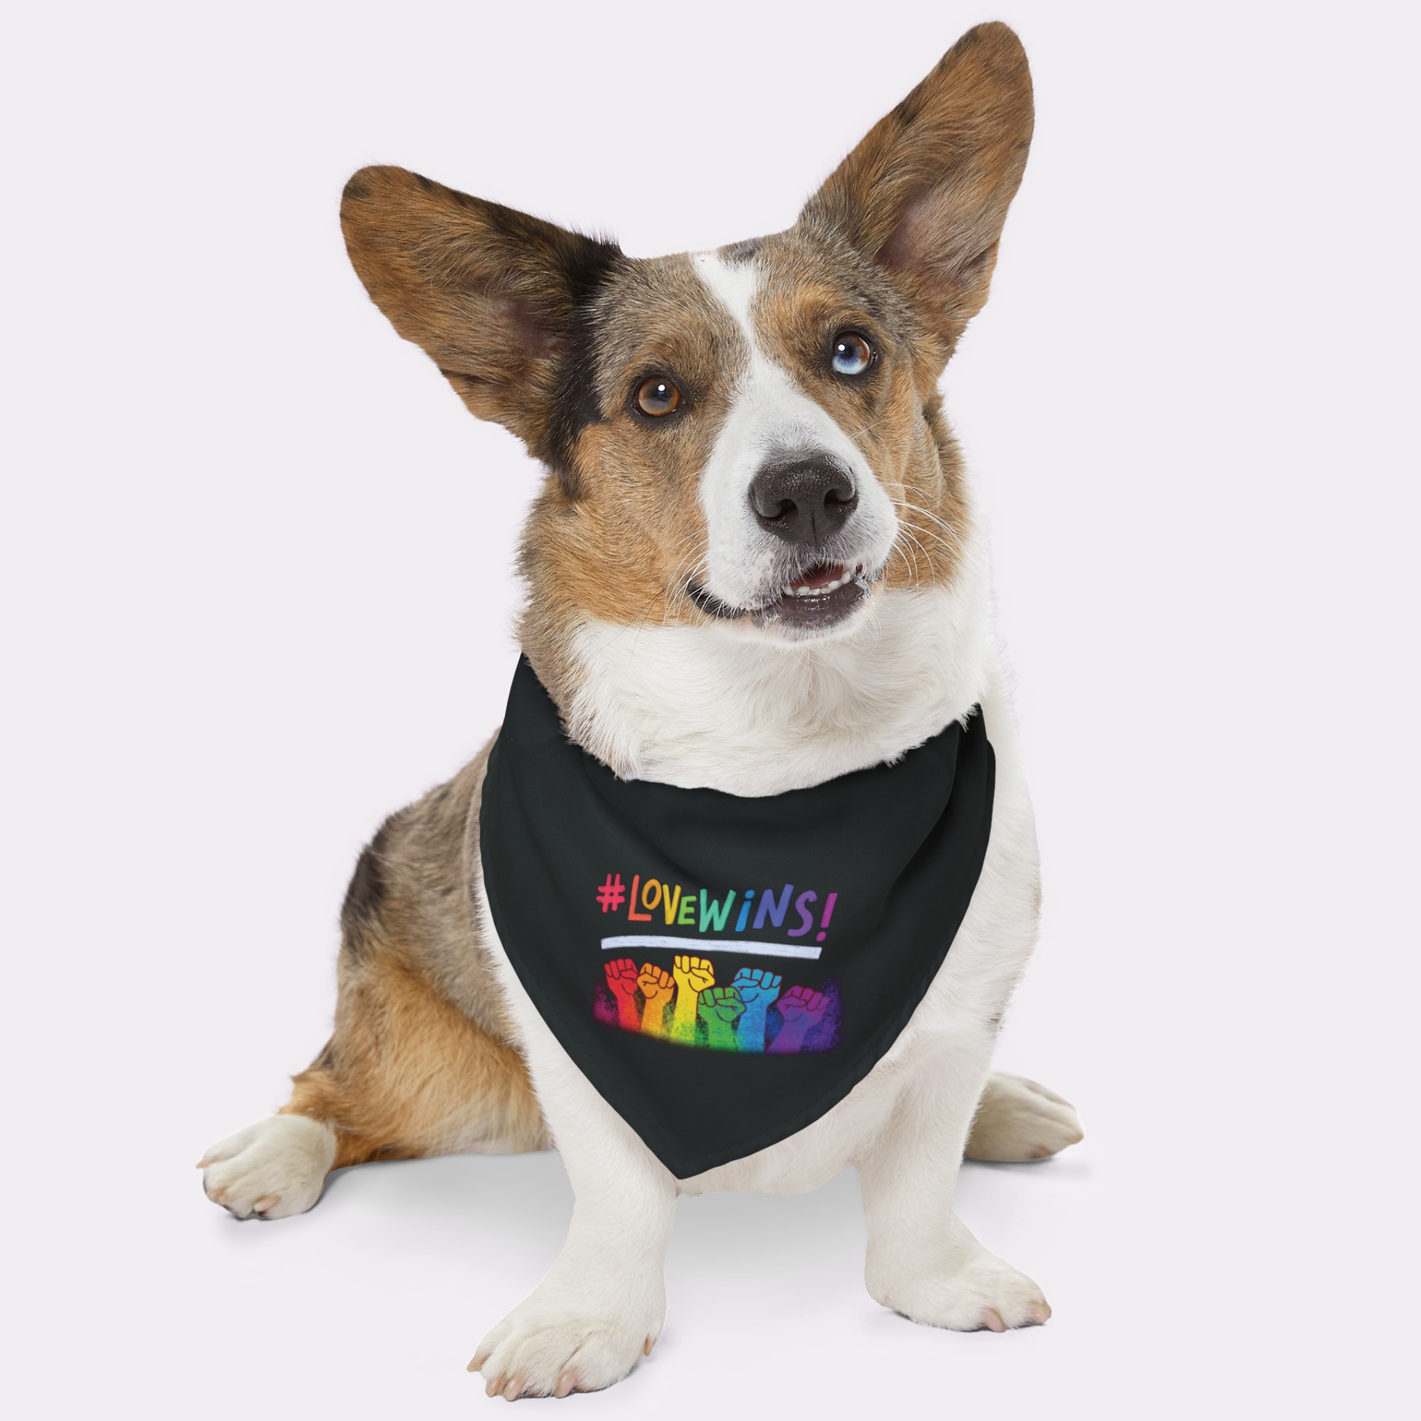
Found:
M 331 1169 L 367 1160 L 547 1147 L 465 878 L 483 759 L 395 814 L 361 854 L 330 1042 L 279 1114 L 200 1161 L 207 1196 L 237 1218 L 300 1214 Z

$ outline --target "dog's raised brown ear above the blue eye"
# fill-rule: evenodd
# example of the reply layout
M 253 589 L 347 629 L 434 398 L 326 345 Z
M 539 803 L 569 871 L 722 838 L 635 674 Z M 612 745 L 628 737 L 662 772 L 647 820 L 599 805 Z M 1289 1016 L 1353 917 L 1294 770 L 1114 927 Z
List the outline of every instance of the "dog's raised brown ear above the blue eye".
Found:
M 800 225 L 892 274 L 946 357 L 986 301 L 1030 142 L 1026 51 L 1005 24 L 980 24 L 870 129 Z

